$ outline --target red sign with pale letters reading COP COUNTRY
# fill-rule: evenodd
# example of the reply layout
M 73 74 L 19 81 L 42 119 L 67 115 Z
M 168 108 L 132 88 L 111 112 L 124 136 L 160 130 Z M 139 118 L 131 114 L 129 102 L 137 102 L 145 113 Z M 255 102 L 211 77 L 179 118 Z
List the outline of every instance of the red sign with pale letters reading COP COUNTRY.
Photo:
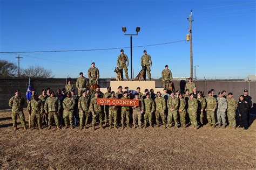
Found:
M 139 100 L 118 99 L 118 98 L 97 98 L 99 105 L 122 105 L 122 106 L 139 106 Z

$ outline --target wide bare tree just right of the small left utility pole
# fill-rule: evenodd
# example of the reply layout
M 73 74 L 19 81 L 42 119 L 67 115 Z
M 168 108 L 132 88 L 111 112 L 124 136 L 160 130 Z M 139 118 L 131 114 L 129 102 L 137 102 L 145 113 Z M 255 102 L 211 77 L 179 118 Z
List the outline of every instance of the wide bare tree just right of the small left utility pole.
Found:
M 21 77 L 53 78 L 54 76 L 51 70 L 41 66 L 30 66 L 29 68 L 21 69 Z

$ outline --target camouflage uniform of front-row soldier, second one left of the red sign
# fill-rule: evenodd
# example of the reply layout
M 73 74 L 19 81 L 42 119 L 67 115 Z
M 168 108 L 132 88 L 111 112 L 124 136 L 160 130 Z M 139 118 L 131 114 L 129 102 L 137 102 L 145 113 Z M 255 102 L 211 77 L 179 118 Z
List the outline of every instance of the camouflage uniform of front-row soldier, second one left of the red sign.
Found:
M 87 125 L 88 117 L 89 117 L 89 107 L 90 107 L 90 98 L 87 96 L 79 97 L 78 109 L 79 109 L 80 126 Z

